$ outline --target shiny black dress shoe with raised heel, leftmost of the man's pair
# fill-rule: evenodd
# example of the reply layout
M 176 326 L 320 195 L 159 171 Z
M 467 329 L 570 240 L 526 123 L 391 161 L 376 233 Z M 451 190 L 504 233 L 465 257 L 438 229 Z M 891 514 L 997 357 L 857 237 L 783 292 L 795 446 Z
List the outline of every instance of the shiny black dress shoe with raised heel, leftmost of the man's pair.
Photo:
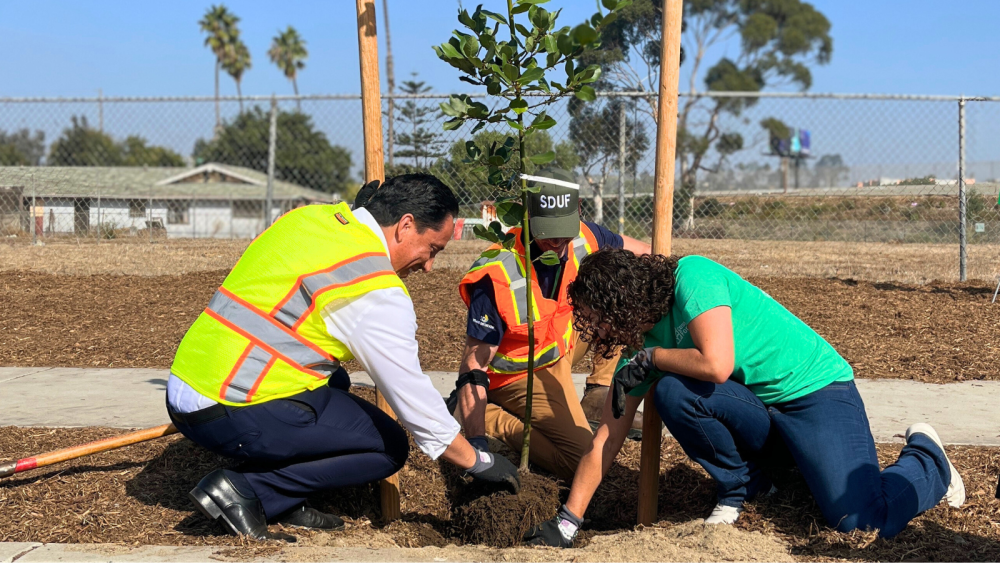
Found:
M 209 520 L 222 520 L 233 534 L 258 540 L 295 541 L 295 536 L 267 531 L 267 519 L 260 499 L 240 493 L 221 469 L 206 475 L 197 487 L 191 489 L 188 498 Z

